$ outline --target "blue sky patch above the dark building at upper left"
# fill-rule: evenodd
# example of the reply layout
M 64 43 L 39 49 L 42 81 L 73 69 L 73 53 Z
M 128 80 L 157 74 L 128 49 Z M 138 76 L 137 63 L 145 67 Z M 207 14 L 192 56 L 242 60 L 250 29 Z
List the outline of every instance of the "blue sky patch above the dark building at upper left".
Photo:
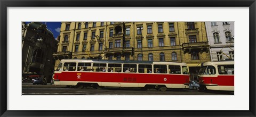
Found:
M 30 22 L 26 22 L 28 24 Z M 60 25 L 61 22 L 42 22 L 46 23 L 47 29 L 51 30 L 53 33 L 54 38 L 56 39 L 60 35 Z

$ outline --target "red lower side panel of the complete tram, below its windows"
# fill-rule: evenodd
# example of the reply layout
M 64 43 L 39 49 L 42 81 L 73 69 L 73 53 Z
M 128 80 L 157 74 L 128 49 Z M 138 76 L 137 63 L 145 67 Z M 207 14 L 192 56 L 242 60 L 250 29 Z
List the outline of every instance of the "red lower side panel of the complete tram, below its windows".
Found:
M 55 85 L 77 85 L 98 83 L 106 87 L 145 87 L 146 85 L 165 85 L 167 88 L 188 88 L 189 76 L 183 74 L 143 74 L 109 72 L 68 72 L 55 73 Z

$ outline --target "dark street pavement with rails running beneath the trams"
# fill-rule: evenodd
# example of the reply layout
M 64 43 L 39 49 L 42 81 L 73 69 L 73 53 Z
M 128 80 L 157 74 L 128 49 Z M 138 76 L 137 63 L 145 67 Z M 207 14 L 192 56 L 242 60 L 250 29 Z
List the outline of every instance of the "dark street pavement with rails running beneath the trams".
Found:
M 159 91 L 155 89 L 142 90 L 139 88 L 68 88 L 66 86 L 33 85 L 22 83 L 22 95 L 234 95 L 225 91 L 201 91 L 191 89 L 167 89 Z

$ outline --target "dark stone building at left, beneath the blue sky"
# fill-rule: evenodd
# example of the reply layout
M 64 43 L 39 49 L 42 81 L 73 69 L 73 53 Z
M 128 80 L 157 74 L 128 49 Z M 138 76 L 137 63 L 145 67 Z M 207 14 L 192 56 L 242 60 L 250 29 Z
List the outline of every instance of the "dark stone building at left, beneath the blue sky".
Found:
M 41 22 L 22 22 L 22 76 L 37 74 L 51 82 L 58 41 Z

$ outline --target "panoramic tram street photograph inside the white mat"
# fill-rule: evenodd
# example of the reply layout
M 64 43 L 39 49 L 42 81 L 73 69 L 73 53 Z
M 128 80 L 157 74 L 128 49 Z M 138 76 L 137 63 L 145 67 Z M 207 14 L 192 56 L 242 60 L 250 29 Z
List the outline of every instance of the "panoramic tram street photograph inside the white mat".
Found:
M 21 22 L 22 95 L 234 95 L 234 24 Z

